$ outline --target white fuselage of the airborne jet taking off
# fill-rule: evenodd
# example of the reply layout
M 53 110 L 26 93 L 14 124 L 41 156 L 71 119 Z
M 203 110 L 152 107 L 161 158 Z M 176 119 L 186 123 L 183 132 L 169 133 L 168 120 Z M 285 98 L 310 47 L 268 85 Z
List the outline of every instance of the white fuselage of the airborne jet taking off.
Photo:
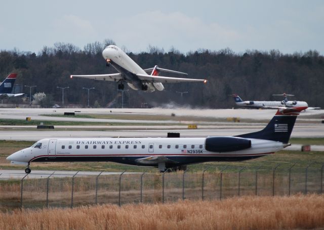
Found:
M 142 87 L 142 82 L 136 76 L 136 74 L 146 74 L 148 75 L 135 61 L 133 61 L 123 50 L 117 46 L 110 45 L 107 46 L 103 52 L 102 56 L 105 60 L 109 60 L 109 63 L 120 73 L 123 73 L 126 78 L 128 85 L 134 89 L 138 90 Z M 156 90 L 163 91 L 164 86 L 162 83 L 145 83 L 147 85 L 148 92 L 153 92 Z

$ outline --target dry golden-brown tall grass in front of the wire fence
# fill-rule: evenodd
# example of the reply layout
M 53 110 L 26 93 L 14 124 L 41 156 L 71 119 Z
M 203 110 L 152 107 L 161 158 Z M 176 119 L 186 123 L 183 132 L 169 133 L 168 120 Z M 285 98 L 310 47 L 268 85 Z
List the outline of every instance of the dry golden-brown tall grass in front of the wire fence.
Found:
M 0 213 L 0 229 L 300 229 L 323 226 L 323 195 Z

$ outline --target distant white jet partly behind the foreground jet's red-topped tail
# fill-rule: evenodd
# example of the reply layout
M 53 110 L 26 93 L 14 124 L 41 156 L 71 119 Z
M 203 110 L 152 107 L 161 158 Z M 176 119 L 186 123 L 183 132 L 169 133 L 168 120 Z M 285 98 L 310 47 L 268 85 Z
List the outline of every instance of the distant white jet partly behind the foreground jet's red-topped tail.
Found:
M 243 101 L 237 94 L 231 95 L 235 104 L 251 108 L 278 108 L 278 107 L 308 107 L 305 101 L 288 101 L 287 97 L 282 101 Z

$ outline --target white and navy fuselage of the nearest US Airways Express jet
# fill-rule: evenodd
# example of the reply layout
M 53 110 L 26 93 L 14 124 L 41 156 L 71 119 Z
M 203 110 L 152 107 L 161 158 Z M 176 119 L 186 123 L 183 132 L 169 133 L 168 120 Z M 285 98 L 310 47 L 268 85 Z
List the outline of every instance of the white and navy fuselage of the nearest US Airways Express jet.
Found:
M 225 137 L 226 138 L 226 137 Z M 7 158 L 13 162 L 116 162 L 157 167 L 156 161 L 139 159 L 163 156 L 166 167 L 210 161 L 243 161 L 272 154 L 285 147 L 278 141 L 251 140 L 251 147 L 222 152 L 206 150 L 207 138 L 59 138 L 42 139 Z M 241 138 L 243 139 L 243 138 Z M 229 146 L 232 148 L 232 146 Z

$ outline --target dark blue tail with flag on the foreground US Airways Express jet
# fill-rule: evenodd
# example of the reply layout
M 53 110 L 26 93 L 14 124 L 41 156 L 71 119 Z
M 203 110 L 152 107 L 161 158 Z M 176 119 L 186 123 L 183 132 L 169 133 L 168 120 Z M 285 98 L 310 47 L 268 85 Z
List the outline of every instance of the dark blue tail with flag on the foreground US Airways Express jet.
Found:
M 261 131 L 238 135 L 236 137 L 255 138 L 288 143 L 297 115 L 307 107 L 278 108 L 269 124 Z

